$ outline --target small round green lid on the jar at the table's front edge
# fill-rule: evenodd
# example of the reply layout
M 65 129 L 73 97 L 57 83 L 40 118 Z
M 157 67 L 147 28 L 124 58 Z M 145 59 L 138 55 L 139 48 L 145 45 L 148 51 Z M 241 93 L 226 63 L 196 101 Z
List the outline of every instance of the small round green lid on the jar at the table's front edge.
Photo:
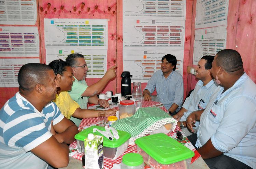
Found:
M 141 164 L 144 164 L 142 156 L 137 153 L 125 154 L 123 156 L 122 163 L 127 166 L 139 166 Z

